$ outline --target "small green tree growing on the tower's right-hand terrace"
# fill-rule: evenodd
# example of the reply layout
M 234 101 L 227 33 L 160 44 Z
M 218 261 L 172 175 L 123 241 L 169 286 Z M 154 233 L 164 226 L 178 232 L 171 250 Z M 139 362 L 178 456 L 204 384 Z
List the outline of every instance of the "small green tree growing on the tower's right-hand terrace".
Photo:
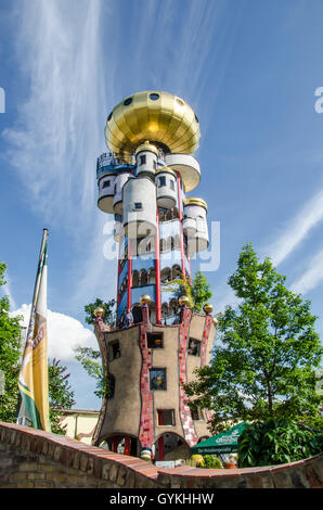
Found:
M 177 278 L 163 284 L 163 290 L 172 292 L 176 298 L 186 295 L 193 311 L 202 311 L 203 305 L 212 296 L 207 278 L 202 271 L 196 271 L 192 283 L 185 278 Z

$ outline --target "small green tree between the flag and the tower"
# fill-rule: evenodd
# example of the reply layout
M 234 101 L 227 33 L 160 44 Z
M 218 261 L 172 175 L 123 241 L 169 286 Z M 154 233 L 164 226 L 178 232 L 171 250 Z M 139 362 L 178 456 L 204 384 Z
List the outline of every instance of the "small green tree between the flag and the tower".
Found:
M 49 400 L 50 423 L 54 434 L 66 434 L 66 425 L 62 425 L 60 418 L 62 409 L 70 409 L 74 406 L 74 391 L 72 390 L 66 373 L 67 367 L 61 365 L 60 359 L 53 359 L 49 364 Z

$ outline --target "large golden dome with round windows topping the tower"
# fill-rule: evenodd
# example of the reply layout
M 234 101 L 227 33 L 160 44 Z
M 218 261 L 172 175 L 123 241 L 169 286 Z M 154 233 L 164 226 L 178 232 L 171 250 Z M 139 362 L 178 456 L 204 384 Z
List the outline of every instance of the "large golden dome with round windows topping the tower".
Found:
M 107 117 L 106 144 L 111 151 L 132 154 L 146 140 L 173 153 L 193 154 L 199 142 L 198 119 L 182 99 L 147 90 L 122 100 Z

